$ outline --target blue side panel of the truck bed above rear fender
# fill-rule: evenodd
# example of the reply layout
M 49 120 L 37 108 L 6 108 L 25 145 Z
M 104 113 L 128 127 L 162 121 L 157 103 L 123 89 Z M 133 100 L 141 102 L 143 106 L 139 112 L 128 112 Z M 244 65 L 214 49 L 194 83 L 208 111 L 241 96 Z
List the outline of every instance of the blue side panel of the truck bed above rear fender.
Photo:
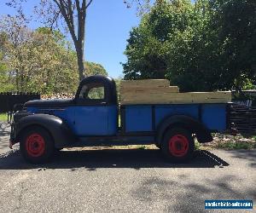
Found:
M 154 131 L 172 115 L 195 118 L 212 132 L 226 130 L 227 104 L 172 104 L 125 106 L 125 132 Z

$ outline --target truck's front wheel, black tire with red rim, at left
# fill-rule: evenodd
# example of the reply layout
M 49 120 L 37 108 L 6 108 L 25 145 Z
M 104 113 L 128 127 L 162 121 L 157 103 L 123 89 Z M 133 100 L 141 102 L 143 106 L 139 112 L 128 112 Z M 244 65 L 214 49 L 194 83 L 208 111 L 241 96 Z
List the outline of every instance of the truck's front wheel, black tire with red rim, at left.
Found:
M 47 130 L 32 126 L 20 135 L 20 153 L 29 163 L 44 164 L 55 153 L 54 141 Z

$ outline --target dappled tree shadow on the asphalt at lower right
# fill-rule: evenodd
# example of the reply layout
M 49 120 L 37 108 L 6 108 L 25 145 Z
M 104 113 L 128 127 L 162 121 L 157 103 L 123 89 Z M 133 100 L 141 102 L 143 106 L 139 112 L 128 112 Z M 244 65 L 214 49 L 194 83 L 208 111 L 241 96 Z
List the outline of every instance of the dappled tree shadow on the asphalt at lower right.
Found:
M 172 180 L 152 176 L 143 181 L 132 194 L 141 202 L 148 202 L 152 205 L 157 202 L 156 198 L 161 200 L 166 203 L 166 212 L 205 212 L 204 201 L 206 199 L 255 200 L 256 193 L 253 186 L 234 187 L 234 182 L 240 181 L 237 176 L 229 174 L 216 175 L 216 178 L 208 176 L 200 181 L 191 181 L 189 175 L 178 176 L 178 179 Z

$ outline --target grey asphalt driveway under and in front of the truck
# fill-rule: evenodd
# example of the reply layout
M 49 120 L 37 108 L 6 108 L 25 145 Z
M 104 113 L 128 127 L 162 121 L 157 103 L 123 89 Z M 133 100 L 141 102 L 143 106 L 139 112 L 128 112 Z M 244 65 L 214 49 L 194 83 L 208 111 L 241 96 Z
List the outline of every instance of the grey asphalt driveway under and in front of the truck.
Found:
M 1 124 L 1 212 L 201 212 L 205 199 L 255 208 L 256 150 L 201 151 L 189 164 L 167 164 L 157 149 L 66 150 L 37 166 L 8 141 Z

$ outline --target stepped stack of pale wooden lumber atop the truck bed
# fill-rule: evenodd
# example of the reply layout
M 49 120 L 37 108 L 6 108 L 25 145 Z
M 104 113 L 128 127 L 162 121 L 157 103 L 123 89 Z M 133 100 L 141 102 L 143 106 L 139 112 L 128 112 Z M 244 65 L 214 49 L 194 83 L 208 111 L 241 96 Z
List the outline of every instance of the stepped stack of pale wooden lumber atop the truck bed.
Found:
M 179 93 L 166 79 L 121 81 L 121 104 L 227 103 L 231 92 Z

